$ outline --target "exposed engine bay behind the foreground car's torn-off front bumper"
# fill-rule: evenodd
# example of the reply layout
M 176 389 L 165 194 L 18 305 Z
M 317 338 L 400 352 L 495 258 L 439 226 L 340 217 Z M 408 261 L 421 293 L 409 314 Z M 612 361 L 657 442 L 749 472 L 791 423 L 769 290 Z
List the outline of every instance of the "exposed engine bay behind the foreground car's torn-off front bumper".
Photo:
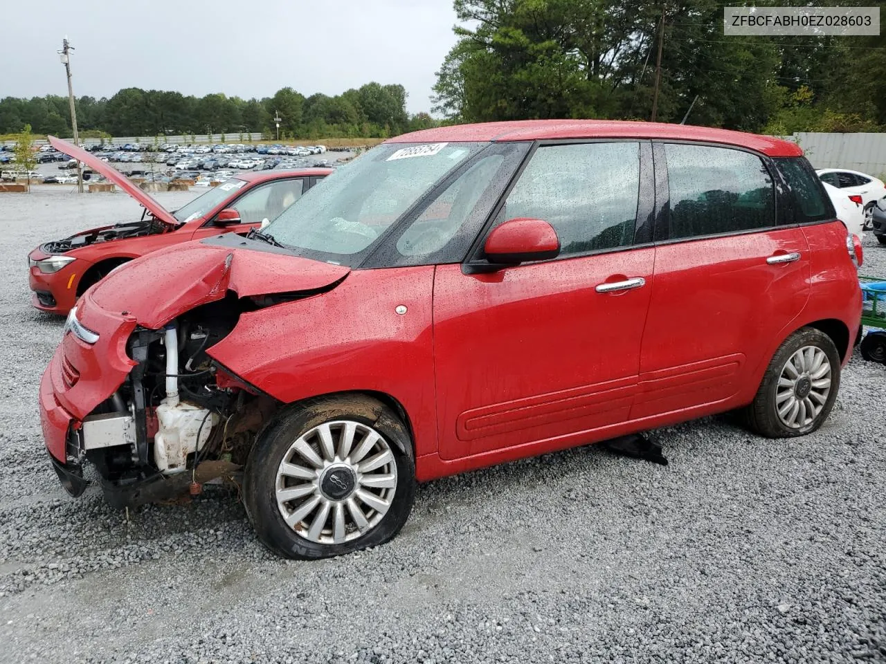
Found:
M 278 404 L 206 350 L 230 333 L 240 313 L 259 306 L 229 292 L 163 329 L 136 328 L 127 350 L 138 365 L 69 441 L 97 468 L 109 503 L 172 498 L 245 465 L 255 435 Z

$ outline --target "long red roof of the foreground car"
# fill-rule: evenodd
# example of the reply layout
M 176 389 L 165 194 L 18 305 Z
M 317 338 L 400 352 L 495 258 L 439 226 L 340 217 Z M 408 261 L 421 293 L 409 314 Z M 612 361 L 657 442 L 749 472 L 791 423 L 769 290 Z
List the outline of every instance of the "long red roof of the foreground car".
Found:
M 443 143 L 481 141 L 544 141 L 570 138 L 650 138 L 704 143 L 726 143 L 762 152 L 770 157 L 799 157 L 797 143 L 773 136 L 745 134 L 730 129 L 671 125 L 626 120 L 517 120 L 422 129 L 390 138 L 385 143 Z

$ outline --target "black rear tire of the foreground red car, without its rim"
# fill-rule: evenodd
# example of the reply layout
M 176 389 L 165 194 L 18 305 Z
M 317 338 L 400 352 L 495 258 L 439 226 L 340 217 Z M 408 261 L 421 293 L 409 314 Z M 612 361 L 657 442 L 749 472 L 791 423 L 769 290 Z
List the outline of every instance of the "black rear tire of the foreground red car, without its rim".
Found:
M 779 416 L 775 407 L 776 391 L 779 388 L 781 372 L 794 354 L 801 348 L 814 346 L 824 351 L 830 366 L 830 387 L 828 396 L 820 413 L 812 421 L 797 428 L 789 427 Z M 745 424 L 754 433 L 767 438 L 792 438 L 805 436 L 819 429 L 822 422 L 828 419 L 834 407 L 837 391 L 840 389 L 840 354 L 831 338 L 816 328 L 801 328 L 789 336 L 775 351 L 773 359 L 766 367 L 763 382 L 757 390 L 754 400 L 744 412 Z

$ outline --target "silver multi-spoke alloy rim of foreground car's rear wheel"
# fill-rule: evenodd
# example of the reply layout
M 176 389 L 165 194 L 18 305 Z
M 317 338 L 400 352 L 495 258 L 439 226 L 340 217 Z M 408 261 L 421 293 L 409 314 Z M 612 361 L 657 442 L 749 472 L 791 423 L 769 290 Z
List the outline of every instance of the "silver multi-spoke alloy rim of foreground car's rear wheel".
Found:
M 804 346 L 790 356 L 775 389 L 775 410 L 790 429 L 812 424 L 828 402 L 831 368 L 818 346 Z

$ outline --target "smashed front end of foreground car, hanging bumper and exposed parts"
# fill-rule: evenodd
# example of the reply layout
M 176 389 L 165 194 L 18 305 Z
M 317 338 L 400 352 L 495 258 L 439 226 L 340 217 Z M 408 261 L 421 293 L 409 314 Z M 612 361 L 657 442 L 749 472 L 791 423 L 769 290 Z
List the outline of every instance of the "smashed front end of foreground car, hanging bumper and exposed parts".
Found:
M 115 507 L 235 476 L 273 399 L 201 354 L 217 334 L 193 320 L 139 328 L 127 313 L 108 313 L 89 294 L 81 299 L 39 398 L 44 442 L 68 493 L 79 496 L 89 485 L 87 461 Z M 191 367 L 198 357 L 203 364 Z

